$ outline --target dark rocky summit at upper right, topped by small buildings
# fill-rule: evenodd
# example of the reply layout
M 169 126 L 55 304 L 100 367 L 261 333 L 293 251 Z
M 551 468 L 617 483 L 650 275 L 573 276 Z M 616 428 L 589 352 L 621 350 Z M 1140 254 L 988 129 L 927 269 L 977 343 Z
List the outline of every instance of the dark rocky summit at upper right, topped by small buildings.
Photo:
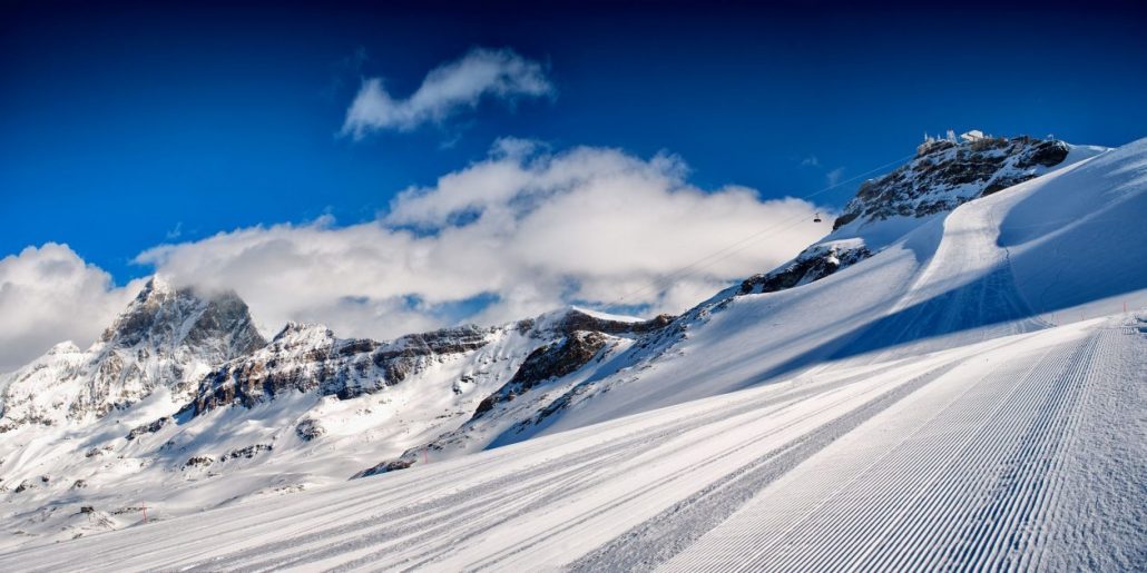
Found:
M 1070 146 L 1028 136 L 989 138 L 972 143 L 939 142 L 910 164 L 865 181 L 833 223 L 891 217 L 927 217 L 951 211 L 1040 175 L 1067 158 Z

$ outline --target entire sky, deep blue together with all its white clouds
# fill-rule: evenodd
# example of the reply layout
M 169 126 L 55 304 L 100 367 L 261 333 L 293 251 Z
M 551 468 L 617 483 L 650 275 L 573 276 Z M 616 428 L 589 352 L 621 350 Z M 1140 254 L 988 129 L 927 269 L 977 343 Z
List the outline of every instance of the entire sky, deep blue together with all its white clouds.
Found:
M 1130 1 L 385 5 L 5 2 L 0 371 L 151 273 L 267 335 L 682 312 L 924 131 L 1147 132 Z

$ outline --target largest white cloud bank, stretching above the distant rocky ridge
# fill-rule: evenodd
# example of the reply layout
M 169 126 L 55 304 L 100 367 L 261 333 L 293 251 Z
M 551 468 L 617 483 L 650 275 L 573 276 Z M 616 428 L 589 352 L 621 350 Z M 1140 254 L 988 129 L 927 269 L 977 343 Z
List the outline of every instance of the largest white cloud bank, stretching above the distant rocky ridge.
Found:
M 686 172 L 666 155 L 502 140 L 486 159 L 399 194 L 375 221 L 244 228 L 136 260 L 177 282 L 235 289 L 268 330 L 310 320 L 391 338 L 623 295 L 650 313 L 680 312 L 819 235 L 801 225 L 816 211 L 809 203 L 760 201 L 742 187 L 707 193 Z M 748 249 L 705 259 L 762 230 Z M 666 280 L 697 260 L 702 272 Z M 468 303 L 477 297 L 493 301 Z

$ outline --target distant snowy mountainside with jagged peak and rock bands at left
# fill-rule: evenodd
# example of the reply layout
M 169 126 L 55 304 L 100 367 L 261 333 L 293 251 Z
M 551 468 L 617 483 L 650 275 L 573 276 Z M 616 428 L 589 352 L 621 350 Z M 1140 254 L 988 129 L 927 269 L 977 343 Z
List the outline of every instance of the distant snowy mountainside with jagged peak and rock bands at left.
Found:
M 204 360 L 179 362 L 187 352 L 171 344 L 172 331 L 186 331 L 179 339 L 195 340 L 196 348 L 237 339 L 232 330 L 200 335 L 194 324 L 217 316 L 204 308 L 220 299 L 192 297 L 153 281 L 92 351 L 61 345 L 17 372 L 10 395 L 32 398 L 11 403 L 52 402 L 42 411 L 56 418 L 14 417 L 15 430 L 0 444 L 5 523 L 9 533 L 21 532 L 0 536 L 0 547 L 124 527 L 142 519 L 145 504 L 150 519 L 165 519 L 344 481 L 458 427 L 539 348 L 592 336 L 609 352 L 669 322 L 569 308 L 389 343 L 341 339 L 319 324 L 291 323 L 268 344 L 258 339 L 243 352 L 193 353 Z M 245 306 L 242 313 L 245 317 Z M 173 330 L 173 324 L 185 327 Z M 133 348 L 131 356 L 141 362 L 151 360 L 150 368 L 138 368 L 159 372 L 149 379 L 175 384 L 142 392 L 106 415 L 57 422 L 75 410 L 69 406 L 75 400 L 37 397 L 36 385 L 53 387 L 52 397 L 83 395 L 92 386 L 84 372 L 106 370 L 99 364 L 108 340 Z M 162 352 L 149 354 L 151 348 Z M 196 382 L 172 372 L 188 372 Z M 13 411 L 25 410 L 41 411 Z M 91 512 L 63 511 L 76 504 Z

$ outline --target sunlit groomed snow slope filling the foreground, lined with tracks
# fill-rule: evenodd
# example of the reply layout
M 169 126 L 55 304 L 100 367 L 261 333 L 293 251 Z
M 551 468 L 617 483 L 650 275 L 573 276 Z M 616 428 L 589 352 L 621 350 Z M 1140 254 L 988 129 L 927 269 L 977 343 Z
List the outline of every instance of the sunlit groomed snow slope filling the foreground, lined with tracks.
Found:
M 1145 347 L 1129 314 L 826 369 L 0 568 L 1141 571 Z

